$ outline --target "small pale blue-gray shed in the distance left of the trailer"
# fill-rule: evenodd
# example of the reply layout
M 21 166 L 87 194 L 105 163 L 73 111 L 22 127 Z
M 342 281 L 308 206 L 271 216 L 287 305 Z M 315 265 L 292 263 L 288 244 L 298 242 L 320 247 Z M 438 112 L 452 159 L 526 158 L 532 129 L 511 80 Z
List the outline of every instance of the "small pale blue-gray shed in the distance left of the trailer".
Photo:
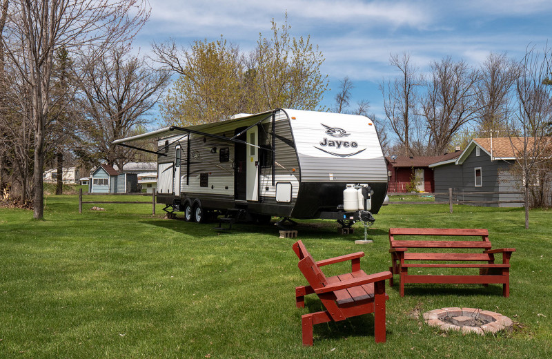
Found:
M 138 188 L 136 173 L 119 173 L 108 164 L 99 165 L 90 175 L 90 193 L 135 193 Z

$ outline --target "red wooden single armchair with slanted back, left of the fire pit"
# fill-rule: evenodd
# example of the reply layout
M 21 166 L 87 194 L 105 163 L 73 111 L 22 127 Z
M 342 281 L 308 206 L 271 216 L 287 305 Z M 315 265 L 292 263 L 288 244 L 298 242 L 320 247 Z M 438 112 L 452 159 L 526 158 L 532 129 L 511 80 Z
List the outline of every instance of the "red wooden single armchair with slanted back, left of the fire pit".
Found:
M 345 320 L 353 316 L 374 313 L 375 342 L 385 342 L 385 280 L 392 278 L 391 272 L 368 275 L 360 269 L 360 258 L 364 252 L 342 255 L 315 262 L 300 240 L 293 244 L 293 251 L 299 258 L 299 269 L 309 285 L 295 288 L 297 308 L 305 307 L 305 295 L 316 293 L 325 311 L 304 314 L 302 320 L 303 345 L 313 345 L 313 324 Z M 351 261 L 351 273 L 326 277 L 321 266 Z

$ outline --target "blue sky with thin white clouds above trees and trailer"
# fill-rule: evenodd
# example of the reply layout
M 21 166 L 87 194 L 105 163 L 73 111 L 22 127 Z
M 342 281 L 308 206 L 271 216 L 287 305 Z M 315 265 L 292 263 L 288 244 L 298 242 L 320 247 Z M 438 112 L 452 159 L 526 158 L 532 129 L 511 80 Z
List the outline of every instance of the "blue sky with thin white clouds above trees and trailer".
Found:
M 284 23 L 290 35 L 319 46 L 322 73 L 330 88 L 322 105 L 331 107 L 339 80 L 355 86 L 351 104 L 367 100 L 370 113 L 383 117 L 382 81 L 397 72 L 391 53 L 406 52 L 422 72 L 443 57 L 479 67 L 489 52 L 521 59 L 527 46 L 552 41 L 550 0 L 363 1 L 363 0 L 149 0 L 151 16 L 135 39 L 135 49 L 150 53 L 152 41 L 175 39 L 189 46 L 195 39 L 221 35 L 244 51 L 255 48 L 259 33 L 270 37 L 270 21 Z

